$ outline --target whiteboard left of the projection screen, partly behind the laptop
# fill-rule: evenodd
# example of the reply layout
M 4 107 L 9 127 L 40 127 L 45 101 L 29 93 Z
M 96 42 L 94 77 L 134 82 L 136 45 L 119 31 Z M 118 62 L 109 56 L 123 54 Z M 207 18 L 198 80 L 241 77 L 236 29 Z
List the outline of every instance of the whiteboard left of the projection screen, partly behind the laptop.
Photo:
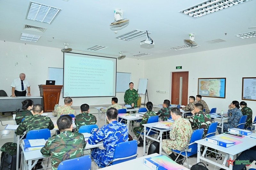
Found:
M 63 69 L 48 67 L 48 80 L 55 80 L 55 85 L 63 85 Z

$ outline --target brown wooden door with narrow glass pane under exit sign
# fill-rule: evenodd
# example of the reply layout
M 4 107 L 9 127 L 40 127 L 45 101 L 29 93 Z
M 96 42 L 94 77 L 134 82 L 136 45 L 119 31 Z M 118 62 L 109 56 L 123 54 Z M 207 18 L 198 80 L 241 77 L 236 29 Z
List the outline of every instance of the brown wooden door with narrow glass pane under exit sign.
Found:
M 182 82 L 182 85 L 180 85 Z M 180 91 L 180 87 L 182 88 Z M 181 94 L 180 94 L 181 92 Z M 180 104 L 181 96 L 181 104 Z M 172 72 L 172 104 L 187 105 L 188 104 L 188 71 Z

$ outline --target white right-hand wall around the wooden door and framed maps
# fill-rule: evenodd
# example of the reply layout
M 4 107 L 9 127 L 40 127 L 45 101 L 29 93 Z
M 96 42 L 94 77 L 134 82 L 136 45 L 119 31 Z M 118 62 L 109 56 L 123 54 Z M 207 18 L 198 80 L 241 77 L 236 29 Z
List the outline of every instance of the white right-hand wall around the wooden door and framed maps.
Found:
M 242 78 L 256 77 L 255 49 L 256 44 L 251 44 L 146 60 L 145 77 L 149 78 L 149 100 L 154 104 L 160 104 L 164 99 L 171 99 L 171 72 L 189 71 L 188 96 L 197 95 L 198 78 L 226 78 L 226 99 L 202 98 L 210 109 L 217 107 L 217 112 L 222 109 L 225 112 L 233 100 L 241 101 Z M 176 66 L 182 66 L 182 70 L 176 70 Z M 157 90 L 166 91 L 166 93 L 156 93 Z M 248 107 L 252 108 L 254 118 L 256 101 L 244 101 Z

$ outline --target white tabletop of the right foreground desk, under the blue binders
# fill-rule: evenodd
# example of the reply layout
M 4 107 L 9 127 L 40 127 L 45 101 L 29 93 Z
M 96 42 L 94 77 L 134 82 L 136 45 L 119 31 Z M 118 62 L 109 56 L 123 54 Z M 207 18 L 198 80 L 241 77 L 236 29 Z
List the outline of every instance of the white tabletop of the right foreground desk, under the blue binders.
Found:
M 238 154 L 240 152 L 243 152 L 244 150 L 249 149 L 249 148 L 256 145 L 256 139 L 251 139 L 251 138 L 248 138 L 248 137 L 238 138 L 238 137 L 235 137 L 235 136 L 233 137 L 232 135 L 224 135 L 224 134 L 216 135 L 215 137 L 221 137 L 221 136 L 236 139 L 236 140 L 242 141 L 242 143 L 230 146 L 228 148 L 225 148 L 223 146 L 219 146 L 219 145 L 216 145 L 216 144 L 212 144 L 210 142 L 206 142 L 205 139 L 197 140 L 195 142 L 197 144 L 208 146 L 210 148 L 216 149 L 216 150 L 221 151 L 221 152 L 228 153 L 230 155 L 236 155 L 236 154 Z M 256 137 L 256 134 L 252 133 L 251 136 Z

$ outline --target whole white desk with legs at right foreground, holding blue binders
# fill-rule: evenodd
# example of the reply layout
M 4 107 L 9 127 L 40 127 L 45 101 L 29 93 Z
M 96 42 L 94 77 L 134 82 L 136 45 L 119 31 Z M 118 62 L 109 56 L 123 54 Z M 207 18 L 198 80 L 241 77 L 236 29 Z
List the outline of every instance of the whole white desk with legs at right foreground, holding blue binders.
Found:
M 230 146 L 228 148 L 225 148 L 225 147 L 222 147 L 222 146 L 219 146 L 219 145 L 216 145 L 216 144 L 206 142 L 205 139 L 197 140 L 197 141 L 195 141 L 197 143 L 197 163 L 202 162 L 202 160 L 204 160 L 204 161 L 209 162 L 213 165 L 219 166 L 220 168 L 224 168 L 224 169 L 227 169 L 227 170 L 228 169 L 232 170 L 233 166 L 231 164 L 229 165 L 229 167 L 225 166 L 226 163 L 227 163 L 227 160 L 234 160 L 234 155 L 236 155 L 240 152 L 243 152 L 243 151 L 245 151 L 245 150 L 247 150 L 247 149 L 256 145 L 256 139 L 252 139 L 252 138 L 248 138 L 248 137 L 238 138 L 238 137 L 235 137 L 235 136 L 232 136 L 232 135 L 226 135 L 226 134 L 216 135 L 215 137 L 221 137 L 221 136 L 236 139 L 238 141 L 242 141 L 242 143 Z M 252 133 L 250 136 L 256 137 L 256 134 Z M 205 146 L 205 149 L 204 149 L 203 154 L 201 155 L 200 150 L 201 150 L 202 145 Z M 206 153 L 206 149 L 208 147 L 226 153 L 225 159 L 223 160 L 222 164 L 219 164 L 219 163 L 216 163 L 212 160 L 204 158 L 205 153 Z

